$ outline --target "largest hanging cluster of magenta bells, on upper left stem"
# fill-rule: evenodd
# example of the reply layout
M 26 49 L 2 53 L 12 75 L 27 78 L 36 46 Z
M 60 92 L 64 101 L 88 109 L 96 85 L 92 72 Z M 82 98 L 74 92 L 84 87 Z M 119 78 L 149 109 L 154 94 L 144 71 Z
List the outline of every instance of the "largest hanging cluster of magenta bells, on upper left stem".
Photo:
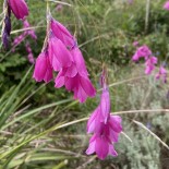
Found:
M 73 35 L 51 15 L 45 47 L 36 60 L 33 77 L 37 81 L 50 82 L 52 72 L 59 72 L 55 87 L 65 86 L 74 93 L 74 98 L 84 102 L 94 97 L 96 89 L 88 79 L 88 72 L 82 52 Z

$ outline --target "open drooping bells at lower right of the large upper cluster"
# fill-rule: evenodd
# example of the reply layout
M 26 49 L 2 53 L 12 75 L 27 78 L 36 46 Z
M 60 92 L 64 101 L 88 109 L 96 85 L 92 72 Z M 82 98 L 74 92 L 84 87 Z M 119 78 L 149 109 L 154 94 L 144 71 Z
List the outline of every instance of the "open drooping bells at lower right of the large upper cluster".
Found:
M 73 59 L 72 64 L 59 72 L 55 81 L 56 87 L 59 88 L 64 85 L 68 90 L 74 93 L 75 99 L 84 102 L 88 96 L 94 97 L 96 95 L 96 89 L 88 79 L 88 72 L 80 49 L 72 49 L 71 55 Z

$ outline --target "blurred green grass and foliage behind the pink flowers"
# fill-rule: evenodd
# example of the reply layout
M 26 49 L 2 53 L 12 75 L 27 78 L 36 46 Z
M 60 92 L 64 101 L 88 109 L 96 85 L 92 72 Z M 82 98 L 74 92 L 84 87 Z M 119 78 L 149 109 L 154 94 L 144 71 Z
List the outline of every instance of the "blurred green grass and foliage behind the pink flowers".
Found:
M 63 2 L 59 11 L 56 9 L 58 2 Z M 46 36 L 46 2 L 27 0 L 27 20 L 35 26 L 38 38 L 37 41 L 26 39 L 37 58 Z M 150 0 L 150 9 L 146 11 L 146 0 L 133 0 L 133 3 L 129 0 L 50 2 L 53 17 L 77 38 L 97 89 L 101 63 L 107 63 L 112 112 L 169 109 L 168 84 L 155 81 L 153 75 L 145 76 L 142 63 L 131 62 L 135 40 L 148 45 L 159 63 L 169 56 L 169 12 L 162 9 L 164 3 L 164 0 Z M 149 13 L 147 22 L 146 12 Z M 12 29 L 17 33 L 11 35 L 11 44 L 22 29 L 22 22 L 14 16 Z M 0 52 L 0 168 L 168 169 L 168 149 L 133 123 L 133 120 L 141 121 L 169 144 L 167 112 L 122 113 L 124 133 L 132 143 L 121 135 L 116 145 L 117 158 L 100 161 L 95 156 L 87 157 L 85 149 L 89 136 L 85 133 L 83 118 L 96 108 L 100 92 L 96 98 L 79 104 L 71 93 L 56 89 L 53 82 L 34 82 L 34 65 L 27 61 L 24 41 L 15 52 L 10 49 Z

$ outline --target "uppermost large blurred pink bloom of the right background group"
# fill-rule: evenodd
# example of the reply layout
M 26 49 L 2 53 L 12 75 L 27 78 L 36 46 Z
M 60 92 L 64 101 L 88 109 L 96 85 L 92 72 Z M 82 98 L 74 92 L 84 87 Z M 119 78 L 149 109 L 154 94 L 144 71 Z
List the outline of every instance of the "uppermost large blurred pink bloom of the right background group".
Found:
M 150 49 L 146 45 L 144 45 L 144 46 L 137 48 L 132 60 L 138 61 L 140 58 L 144 58 L 145 60 L 147 60 L 150 55 L 152 55 Z

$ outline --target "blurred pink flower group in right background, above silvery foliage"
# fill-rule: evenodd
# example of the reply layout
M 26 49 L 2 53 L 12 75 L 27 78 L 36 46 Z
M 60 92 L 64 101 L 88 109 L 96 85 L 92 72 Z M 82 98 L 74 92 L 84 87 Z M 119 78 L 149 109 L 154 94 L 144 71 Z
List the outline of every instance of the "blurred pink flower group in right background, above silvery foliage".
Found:
M 158 59 L 153 56 L 152 50 L 146 45 L 138 47 L 138 43 L 134 41 L 133 46 L 137 47 L 137 49 L 135 53 L 133 55 L 132 60 L 136 62 L 141 58 L 144 58 L 145 74 L 149 75 L 155 70 L 155 64 L 157 64 Z M 167 71 L 162 65 L 160 65 L 159 72 L 156 74 L 156 79 L 158 80 L 161 76 L 162 76 L 162 81 L 167 82 Z

